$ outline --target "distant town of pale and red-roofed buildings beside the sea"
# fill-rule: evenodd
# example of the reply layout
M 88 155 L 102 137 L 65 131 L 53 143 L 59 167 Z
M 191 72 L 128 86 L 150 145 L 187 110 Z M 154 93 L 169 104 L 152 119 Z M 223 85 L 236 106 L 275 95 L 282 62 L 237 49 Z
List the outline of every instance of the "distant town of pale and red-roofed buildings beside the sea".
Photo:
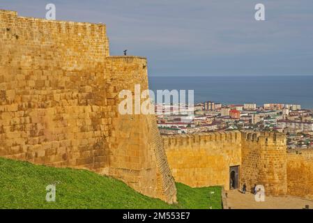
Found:
M 313 111 L 300 105 L 222 105 L 213 101 L 194 107 L 157 104 L 155 114 L 161 134 L 268 130 L 287 134 L 288 148 L 313 148 Z

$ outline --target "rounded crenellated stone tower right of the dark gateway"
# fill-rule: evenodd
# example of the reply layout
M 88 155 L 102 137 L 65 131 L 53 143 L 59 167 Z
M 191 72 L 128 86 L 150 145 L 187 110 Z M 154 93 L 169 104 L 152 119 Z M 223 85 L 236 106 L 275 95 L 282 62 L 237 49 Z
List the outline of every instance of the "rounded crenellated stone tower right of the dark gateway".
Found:
M 264 185 L 266 194 L 287 194 L 287 152 L 284 134 L 273 132 L 242 134 L 241 183 L 247 190 Z

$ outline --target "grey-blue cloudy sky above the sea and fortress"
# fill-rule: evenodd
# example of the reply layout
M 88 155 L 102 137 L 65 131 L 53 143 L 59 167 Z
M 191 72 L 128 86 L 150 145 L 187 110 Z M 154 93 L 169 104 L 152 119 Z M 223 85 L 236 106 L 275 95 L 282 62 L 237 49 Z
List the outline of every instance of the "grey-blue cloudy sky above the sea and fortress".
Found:
M 0 8 L 107 25 L 112 55 L 146 56 L 150 75 L 313 75 L 312 0 L 0 0 Z M 254 20 L 264 3 L 266 21 Z

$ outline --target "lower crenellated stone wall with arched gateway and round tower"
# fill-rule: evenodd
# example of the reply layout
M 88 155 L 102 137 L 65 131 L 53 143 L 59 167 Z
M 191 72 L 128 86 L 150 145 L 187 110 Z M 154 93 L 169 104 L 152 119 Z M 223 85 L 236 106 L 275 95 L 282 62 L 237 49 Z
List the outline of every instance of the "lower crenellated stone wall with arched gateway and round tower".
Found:
M 230 167 L 239 166 L 239 185 L 264 185 L 267 195 L 313 199 L 313 150 L 288 151 L 284 134 L 214 132 L 163 136 L 176 181 L 191 187 L 222 185 L 229 190 Z

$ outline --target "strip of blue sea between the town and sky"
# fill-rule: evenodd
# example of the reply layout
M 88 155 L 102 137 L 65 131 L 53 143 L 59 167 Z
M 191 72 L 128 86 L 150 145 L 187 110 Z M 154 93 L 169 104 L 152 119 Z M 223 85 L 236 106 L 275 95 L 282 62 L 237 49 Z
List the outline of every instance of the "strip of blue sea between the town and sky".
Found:
M 313 109 L 313 76 L 149 77 L 149 87 L 194 90 L 194 102 L 297 104 Z

